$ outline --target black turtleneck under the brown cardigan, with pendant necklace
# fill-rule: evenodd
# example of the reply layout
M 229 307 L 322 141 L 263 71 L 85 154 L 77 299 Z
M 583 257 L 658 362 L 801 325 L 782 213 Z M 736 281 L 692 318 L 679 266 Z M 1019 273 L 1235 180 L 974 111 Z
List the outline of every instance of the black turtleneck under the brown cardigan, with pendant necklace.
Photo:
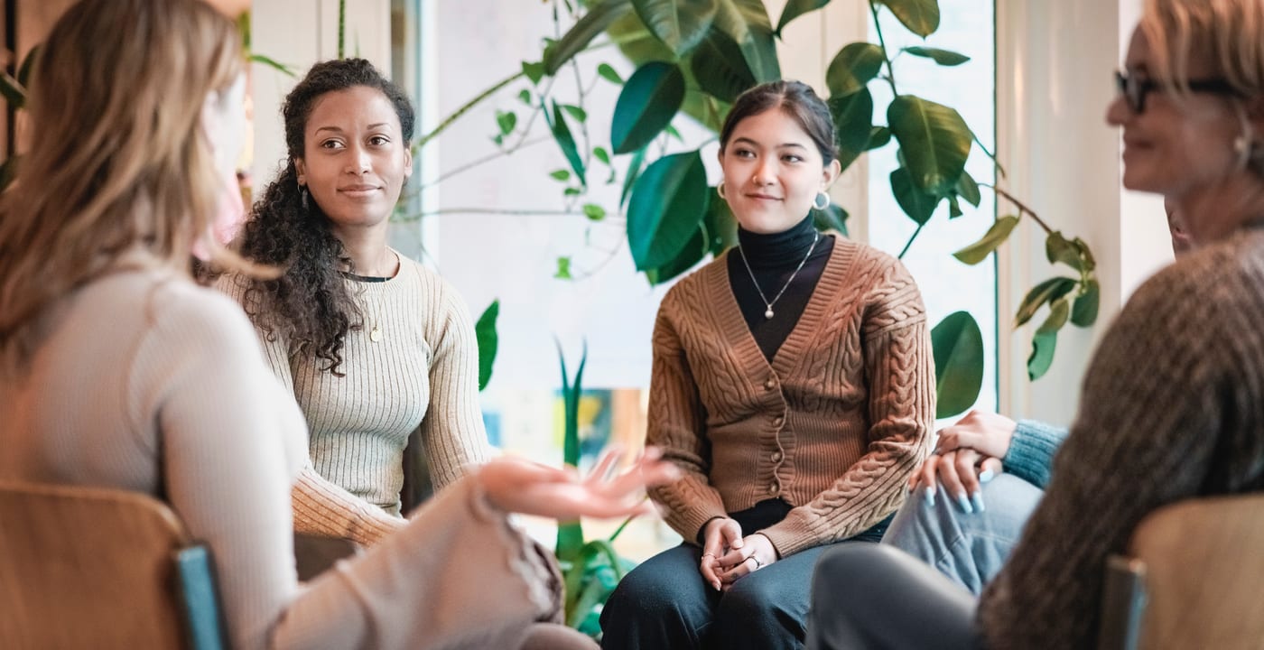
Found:
M 829 253 L 834 249 L 834 238 L 824 234 L 813 248 L 815 235 L 811 215 L 789 230 L 769 235 L 738 229 L 739 248 L 728 253 L 728 282 L 733 287 L 737 306 L 741 307 L 746 326 L 750 328 L 760 350 L 770 362 L 799 322 L 799 316 L 803 315 L 813 290 L 817 288 L 817 281 L 825 271 Z M 809 249 L 811 249 L 810 255 Z M 747 272 L 746 264 L 742 263 L 743 254 L 746 262 L 751 264 L 751 272 Z M 808 255 L 808 261 L 791 281 L 790 276 L 799 267 L 799 262 L 803 262 L 804 255 Z M 786 281 L 790 281 L 785 293 L 772 304 L 771 319 L 763 317 L 767 305 L 751 282 L 751 273 L 755 273 L 760 290 L 769 300 L 781 291 Z

